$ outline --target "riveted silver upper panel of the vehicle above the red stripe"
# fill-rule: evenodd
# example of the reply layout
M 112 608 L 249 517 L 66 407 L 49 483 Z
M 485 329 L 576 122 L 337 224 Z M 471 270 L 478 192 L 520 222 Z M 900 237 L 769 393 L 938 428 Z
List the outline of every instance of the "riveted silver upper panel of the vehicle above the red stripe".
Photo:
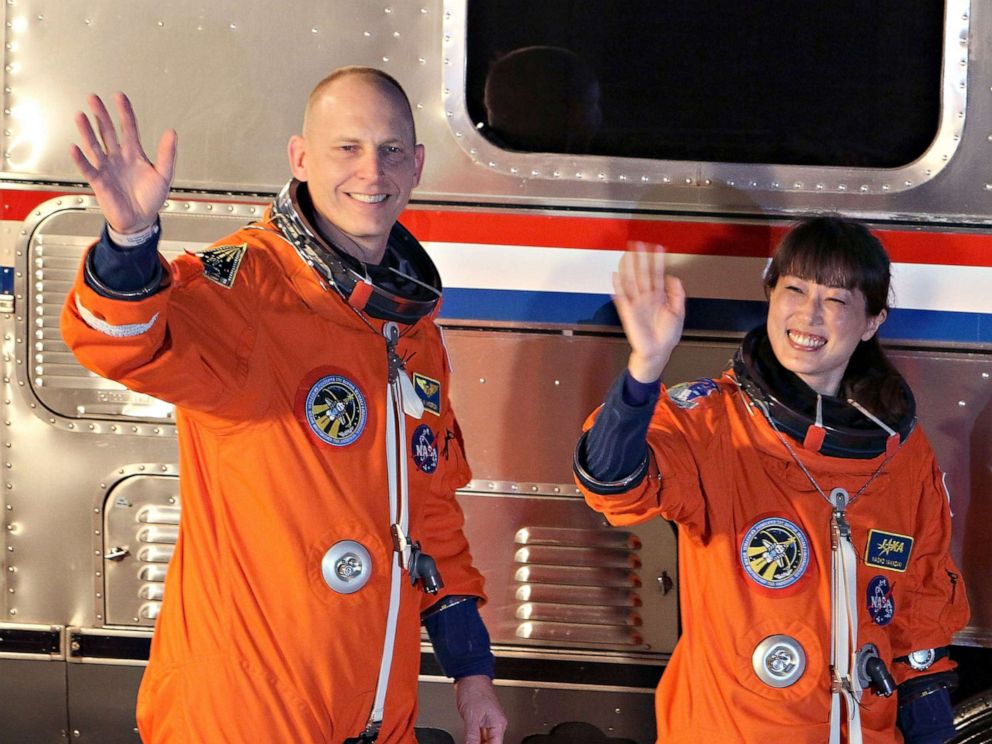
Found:
M 976 157 L 988 151 L 992 118 L 987 3 L 947 1 L 932 148 L 904 168 L 864 169 L 500 150 L 465 113 L 466 2 L 13 1 L 4 6 L 4 172 L 78 182 L 67 154 L 74 113 L 94 89 L 126 90 L 149 151 L 165 128 L 179 132 L 177 188 L 272 193 L 288 176 L 286 141 L 300 128 L 309 90 L 334 67 L 362 64 L 390 72 L 410 95 L 428 153 L 421 199 L 736 213 L 839 208 L 939 220 L 992 214 Z M 870 65 L 866 56 L 866 74 Z

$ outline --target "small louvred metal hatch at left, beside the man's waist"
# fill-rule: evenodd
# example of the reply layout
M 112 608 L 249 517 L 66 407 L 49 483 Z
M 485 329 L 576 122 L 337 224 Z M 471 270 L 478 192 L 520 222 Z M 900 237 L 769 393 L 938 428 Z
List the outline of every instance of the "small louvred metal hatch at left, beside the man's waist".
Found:
M 111 490 L 104 505 L 108 624 L 155 624 L 179 516 L 179 479 L 174 476 L 132 476 Z

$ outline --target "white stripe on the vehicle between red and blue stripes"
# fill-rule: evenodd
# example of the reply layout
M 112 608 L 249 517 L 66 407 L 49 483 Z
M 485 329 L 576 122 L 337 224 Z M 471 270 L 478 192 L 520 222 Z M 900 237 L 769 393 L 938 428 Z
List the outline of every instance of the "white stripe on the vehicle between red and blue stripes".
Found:
M 480 243 L 425 243 L 446 287 L 612 294 L 620 253 Z M 763 300 L 767 258 L 668 253 L 666 265 L 689 297 Z M 992 268 L 893 264 L 895 307 L 992 313 Z

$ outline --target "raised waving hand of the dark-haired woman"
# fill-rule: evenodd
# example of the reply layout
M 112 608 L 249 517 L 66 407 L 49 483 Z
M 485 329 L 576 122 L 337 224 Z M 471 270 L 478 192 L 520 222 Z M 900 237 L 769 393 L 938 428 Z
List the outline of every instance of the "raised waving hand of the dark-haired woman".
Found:
M 665 274 L 664 248 L 641 242 L 629 248 L 613 274 L 613 302 L 630 343 L 627 368 L 634 379 L 652 382 L 682 337 L 685 290 Z

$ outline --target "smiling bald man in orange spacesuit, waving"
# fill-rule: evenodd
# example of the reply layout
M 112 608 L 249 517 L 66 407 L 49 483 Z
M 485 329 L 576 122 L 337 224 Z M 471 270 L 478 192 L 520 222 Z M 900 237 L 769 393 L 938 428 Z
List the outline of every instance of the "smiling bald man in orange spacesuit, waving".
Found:
M 89 369 L 174 403 L 179 436 L 142 740 L 413 744 L 423 623 L 465 741 L 500 744 L 441 283 L 397 222 L 424 166 L 402 88 L 371 68 L 321 81 L 265 216 L 171 265 L 175 132 L 152 163 L 123 94 L 119 131 L 89 104 L 71 155 L 107 225 L 63 335 Z

